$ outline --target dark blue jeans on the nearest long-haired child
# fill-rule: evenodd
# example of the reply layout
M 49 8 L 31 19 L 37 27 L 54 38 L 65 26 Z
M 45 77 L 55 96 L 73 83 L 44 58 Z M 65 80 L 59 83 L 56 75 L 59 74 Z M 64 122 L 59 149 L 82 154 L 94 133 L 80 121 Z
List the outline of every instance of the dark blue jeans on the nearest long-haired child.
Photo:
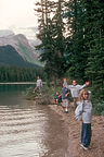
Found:
M 81 144 L 83 146 L 88 147 L 90 145 L 91 134 L 91 123 L 82 123 Z

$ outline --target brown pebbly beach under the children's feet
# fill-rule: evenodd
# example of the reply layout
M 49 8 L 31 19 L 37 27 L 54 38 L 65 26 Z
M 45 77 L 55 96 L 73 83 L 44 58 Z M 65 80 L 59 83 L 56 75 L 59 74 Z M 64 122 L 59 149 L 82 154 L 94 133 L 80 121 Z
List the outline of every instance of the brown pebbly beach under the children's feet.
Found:
M 68 148 L 65 157 L 104 157 L 104 117 L 92 117 L 92 138 L 88 150 L 80 147 L 81 122 L 75 120 L 74 108 L 68 108 L 68 113 L 64 113 L 61 106 L 50 105 L 50 108 L 63 117 L 68 130 Z

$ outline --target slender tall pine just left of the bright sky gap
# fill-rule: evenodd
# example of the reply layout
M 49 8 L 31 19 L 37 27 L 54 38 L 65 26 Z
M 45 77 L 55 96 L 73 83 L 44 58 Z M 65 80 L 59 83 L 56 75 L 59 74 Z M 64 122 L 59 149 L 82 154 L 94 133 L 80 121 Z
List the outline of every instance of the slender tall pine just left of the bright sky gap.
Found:
M 55 64 L 57 67 L 57 76 L 61 78 L 66 72 L 68 64 L 65 58 L 65 22 L 63 14 L 65 11 L 65 1 L 58 0 L 56 3 L 56 13 L 52 19 L 53 24 L 53 39 L 54 39 L 54 55 Z

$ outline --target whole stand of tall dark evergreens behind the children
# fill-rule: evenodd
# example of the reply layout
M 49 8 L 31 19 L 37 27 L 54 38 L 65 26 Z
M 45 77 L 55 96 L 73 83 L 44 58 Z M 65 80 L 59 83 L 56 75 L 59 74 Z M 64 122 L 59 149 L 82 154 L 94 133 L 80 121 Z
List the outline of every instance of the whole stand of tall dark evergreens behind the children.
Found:
M 37 37 L 48 80 L 90 81 L 94 97 L 104 100 L 104 1 L 38 0 Z

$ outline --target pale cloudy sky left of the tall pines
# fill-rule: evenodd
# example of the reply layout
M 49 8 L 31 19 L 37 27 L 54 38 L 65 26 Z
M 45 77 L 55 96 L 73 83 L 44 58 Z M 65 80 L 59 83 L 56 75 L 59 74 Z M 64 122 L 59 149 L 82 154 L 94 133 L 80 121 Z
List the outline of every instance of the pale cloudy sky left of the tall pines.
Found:
M 11 29 L 34 39 L 37 32 L 37 0 L 0 0 L 0 29 Z

